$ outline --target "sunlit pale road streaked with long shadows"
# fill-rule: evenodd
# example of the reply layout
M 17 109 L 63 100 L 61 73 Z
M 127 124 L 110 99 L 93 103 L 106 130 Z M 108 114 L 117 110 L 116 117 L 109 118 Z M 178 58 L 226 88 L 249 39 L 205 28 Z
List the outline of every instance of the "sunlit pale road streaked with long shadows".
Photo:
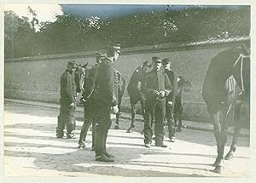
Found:
M 78 139 L 56 139 L 58 110 L 5 102 L 4 175 L 5 176 L 125 176 L 125 177 L 246 177 L 249 174 L 249 138 L 240 137 L 236 157 L 226 161 L 223 174 L 214 174 L 216 146 L 213 134 L 183 129 L 177 141 L 166 139 L 168 148 L 143 146 L 137 123 L 136 131 L 125 133 L 130 125 L 121 119 L 120 130 L 109 131 L 108 151 L 114 163 L 98 163 L 90 151 L 91 132 L 86 148 L 77 148 Z M 82 122 L 78 122 L 77 136 Z M 228 140 L 230 144 L 230 138 Z M 227 146 L 226 152 L 229 150 Z

